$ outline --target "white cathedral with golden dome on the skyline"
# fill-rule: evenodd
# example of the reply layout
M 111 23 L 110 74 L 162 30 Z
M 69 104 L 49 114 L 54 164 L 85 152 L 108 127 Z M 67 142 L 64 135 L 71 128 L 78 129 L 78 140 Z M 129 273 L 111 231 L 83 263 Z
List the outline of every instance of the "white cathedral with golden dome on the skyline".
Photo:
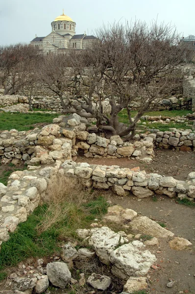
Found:
M 44 53 L 49 54 L 57 50 L 65 50 L 73 48 L 82 50 L 87 47 L 90 42 L 93 42 L 96 37 L 75 35 L 76 23 L 69 16 L 63 14 L 56 17 L 51 23 L 52 32 L 46 37 L 35 37 L 30 44 Z

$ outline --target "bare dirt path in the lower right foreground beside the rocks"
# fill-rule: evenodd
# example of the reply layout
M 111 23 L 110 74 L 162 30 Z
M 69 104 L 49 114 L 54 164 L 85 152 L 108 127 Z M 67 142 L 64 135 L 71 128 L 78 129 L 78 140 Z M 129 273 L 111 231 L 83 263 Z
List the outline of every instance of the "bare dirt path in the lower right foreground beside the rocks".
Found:
M 157 270 L 148 272 L 151 294 L 195 294 L 195 208 L 175 203 L 169 198 L 160 197 L 157 202 L 152 199 L 138 199 L 132 197 L 110 197 L 112 205 L 120 204 L 124 208 L 131 208 L 155 221 L 163 221 L 166 228 L 175 236 L 183 237 L 193 243 L 193 247 L 186 251 L 172 250 L 168 240 L 160 240 L 159 247 L 148 246 L 148 250 L 157 257 Z M 156 253 L 161 251 L 161 253 Z M 173 288 L 166 285 L 169 279 L 176 281 Z M 189 291 L 189 292 L 188 292 Z

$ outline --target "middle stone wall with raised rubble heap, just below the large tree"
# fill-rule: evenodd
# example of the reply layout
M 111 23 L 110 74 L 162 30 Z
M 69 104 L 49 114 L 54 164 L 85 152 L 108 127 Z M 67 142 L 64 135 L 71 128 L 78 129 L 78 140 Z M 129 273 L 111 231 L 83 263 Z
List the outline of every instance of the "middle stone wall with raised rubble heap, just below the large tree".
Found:
M 15 129 L 0 133 L 1 163 L 51 164 L 71 159 L 81 153 L 85 157 L 129 157 L 151 161 L 153 144 L 147 140 L 123 143 L 119 136 L 110 140 L 86 131 L 88 121 L 73 114 L 53 119 L 42 129 L 19 132 Z M 143 159 L 143 160 L 144 160 Z

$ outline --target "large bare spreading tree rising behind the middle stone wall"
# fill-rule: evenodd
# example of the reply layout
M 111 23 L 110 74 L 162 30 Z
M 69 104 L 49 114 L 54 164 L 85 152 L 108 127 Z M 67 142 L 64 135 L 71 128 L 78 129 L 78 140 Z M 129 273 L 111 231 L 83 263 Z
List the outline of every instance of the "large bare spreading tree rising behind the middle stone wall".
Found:
M 169 25 L 109 25 L 97 31 L 96 41 L 86 50 L 72 49 L 45 59 L 42 77 L 60 97 L 64 112 L 96 118 L 107 137 L 128 140 L 154 100 L 165 97 L 172 84 L 181 80 L 179 65 L 189 52 L 179 43 L 179 35 Z M 140 106 L 132 119 L 129 105 L 137 98 Z M 105 99 L 111 106 L 109 115 L 103 113 Z M 119 121 L 123 108 L 128 124 Z

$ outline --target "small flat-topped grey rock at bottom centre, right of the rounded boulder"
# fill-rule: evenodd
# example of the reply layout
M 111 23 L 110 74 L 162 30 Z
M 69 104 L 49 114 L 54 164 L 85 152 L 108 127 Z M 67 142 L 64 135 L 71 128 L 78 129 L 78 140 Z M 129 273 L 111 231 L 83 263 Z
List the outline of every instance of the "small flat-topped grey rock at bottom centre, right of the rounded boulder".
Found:
M 111 278 L 105 275 L 92 273 L 92 275 L 88 277 L 87 283 L 95 289 L 104 291 L 110 286 Z

